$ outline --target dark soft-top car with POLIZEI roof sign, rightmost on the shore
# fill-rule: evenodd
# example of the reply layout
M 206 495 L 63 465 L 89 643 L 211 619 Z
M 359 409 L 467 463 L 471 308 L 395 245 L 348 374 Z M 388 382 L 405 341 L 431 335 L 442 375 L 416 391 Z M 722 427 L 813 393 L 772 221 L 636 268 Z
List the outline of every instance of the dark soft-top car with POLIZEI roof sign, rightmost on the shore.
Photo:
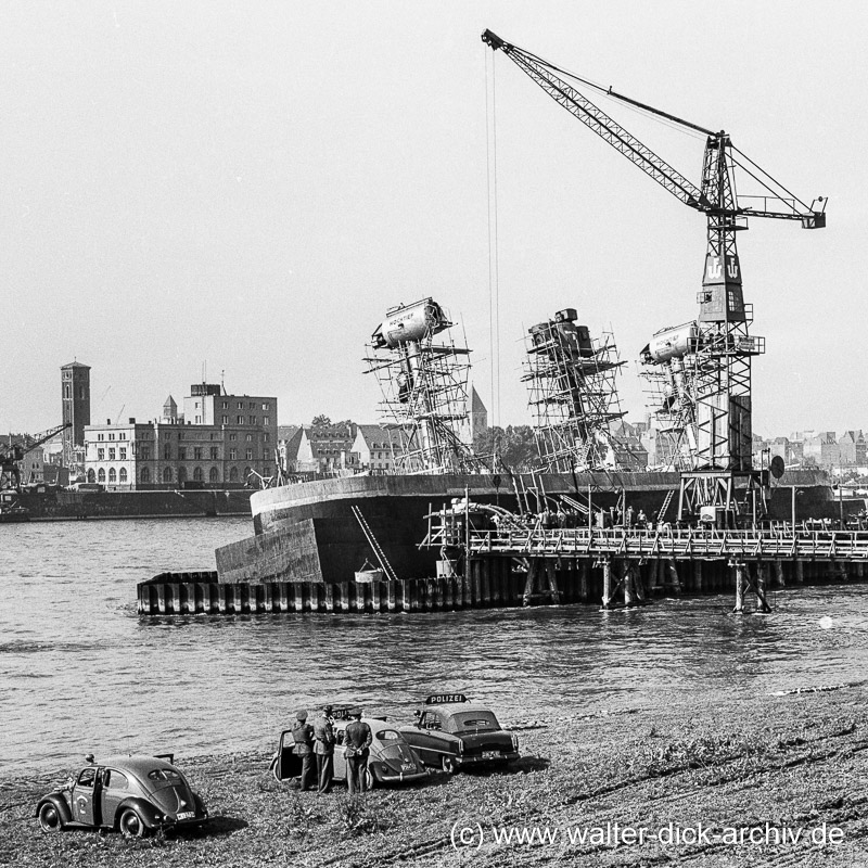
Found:
M 495 713 L 463 693 L 436 693 L 416 712 L 412 726 L 400 733 L 432 768 L 454 774 L 480 763 L 509 763 L 519 758 L 519 738 L 506 731 Z

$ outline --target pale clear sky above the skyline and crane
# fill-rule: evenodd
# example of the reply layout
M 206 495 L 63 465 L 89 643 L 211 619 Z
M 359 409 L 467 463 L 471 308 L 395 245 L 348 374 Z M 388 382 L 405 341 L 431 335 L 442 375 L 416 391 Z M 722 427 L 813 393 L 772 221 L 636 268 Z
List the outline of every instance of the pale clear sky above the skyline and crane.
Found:
M 429 295 L 490 422 L 531 421 L 523 335 L 564 307 L 612 329 L 641 419 L 635 359 L 695 317 L 705 218 L 485 28 L 829 197 L 825 230 L 739 237 L 767 347 L 754 430 L 868 429 L 863 3 L 5 0 L 0 432 L 58 424 L 74 359 L 94 422 L 156 418 L 203 378 L 276 395 L 281 424 L 376 421 L 366 342 Z M 701 137 L 599 105 L 699 182 Z

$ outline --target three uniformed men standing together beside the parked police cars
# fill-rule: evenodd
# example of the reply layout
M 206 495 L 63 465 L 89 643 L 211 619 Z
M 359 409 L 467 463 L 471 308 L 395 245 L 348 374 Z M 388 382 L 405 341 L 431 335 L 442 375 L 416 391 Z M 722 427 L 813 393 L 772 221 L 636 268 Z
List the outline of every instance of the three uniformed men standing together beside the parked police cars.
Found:
M 307 723 L 307 710 L 295 715 L 292 737 L 294 753 L 302 761 L 301 790 L 316 789 L 328 793 L 334 778 L 334 749 L 337 736 L 332 726 L 332 706 L 326 705 L 312 725 Z M 349 794 L 363 793 L 367 789 L 368 756 L 370 755 L 371 728 L 361 719 L 361 709 L 349 710 L 350 722 L 343 731 L 341 748 L 346 760 L 346 784 Z

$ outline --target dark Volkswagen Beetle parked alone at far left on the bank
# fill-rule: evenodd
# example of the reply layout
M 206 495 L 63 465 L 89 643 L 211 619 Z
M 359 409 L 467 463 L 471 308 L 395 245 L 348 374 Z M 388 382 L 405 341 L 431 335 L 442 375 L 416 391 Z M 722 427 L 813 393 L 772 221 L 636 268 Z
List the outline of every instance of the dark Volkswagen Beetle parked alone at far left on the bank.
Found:
M 36 816 L 43 831 L 91 827 L 142 838 L 156 829 L 197 826 L 208 817 L 171 754 L 86 760 L 63 789 L 39 800 Z

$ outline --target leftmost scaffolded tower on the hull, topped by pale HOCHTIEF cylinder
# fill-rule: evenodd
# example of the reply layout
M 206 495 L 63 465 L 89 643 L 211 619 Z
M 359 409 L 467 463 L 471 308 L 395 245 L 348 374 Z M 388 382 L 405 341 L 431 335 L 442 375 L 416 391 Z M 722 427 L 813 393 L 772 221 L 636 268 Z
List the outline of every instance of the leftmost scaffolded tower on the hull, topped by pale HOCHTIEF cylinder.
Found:
M 369 344 L 366 372 L 376 376 L 383 395 L 381 424 L 406 434 L 395 456 L 398 473 L 484 469 L 467 442 L 470 350 L 456 345 L 451 327 L 443 308 L 423 298 L 390 309 Z

